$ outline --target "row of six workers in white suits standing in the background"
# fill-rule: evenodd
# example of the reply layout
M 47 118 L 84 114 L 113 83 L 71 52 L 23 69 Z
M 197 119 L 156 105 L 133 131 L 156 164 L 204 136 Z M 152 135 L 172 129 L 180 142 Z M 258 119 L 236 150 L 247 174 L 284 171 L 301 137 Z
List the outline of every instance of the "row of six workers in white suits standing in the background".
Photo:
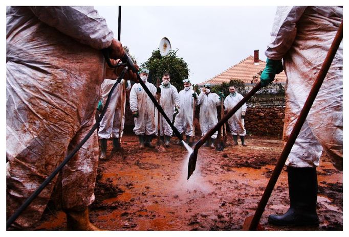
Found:
M 160 98 L 159 104 L 163 108 L 167 117 L 174 117 L 173 125 L 179 133 L 186 136 L 185 142 L 187 144 L 189 144 L 190 137 L 193 136 L 194 105 L 200 105 L 200 127 L 202 136 L 204 136 L 218 122 L 217 106 L 221 106 L 221 101 L 224 101 L 225 111 L 229 111 L 243 99 L 243 96 L 236 92 L 234 86 L 230 86 L 230 94 L 224 100 L 224 93 L 220 93 L 219 96 L 218 94 L 211 92 L 211 86 L 209 83 L 204 85 L 202 92 L 198 96 L 197 92 L 193 90 L 193 86 L 189 79 L 183 80 L 184 89 L 177 92 L 177 88 L 170 83 L 171 78 L 169 73 L 163 74 L 162 83 L 159 87 L 155 87 L 155 85 L 147 81 L 149 74 L 148 69 L 141 68 L 139 73 L 140 78 L 152 93 L 152 96 Z M 102 83 L 102 108 L 105 105 L 107 92 L 111 90 L 111 87 L 115 82 L 115 80 L 105 79 Z M 129 90 L 129 88 L 130 84 L 128 82 L 126 89 Z M 123 96 L 123 87 L 117 85 L 111 97 L 110 108 L 108 107 L 106 109 L 106 113 L 102 118 L 100 129 L 98 131 L 101 148 L 100 159 L 106 158 L 107 138 L 113 138 L 113 150 L 120 148 L 119 136 L 122 134 L 122 128 L 125 121 L 125 113 L 123 113 L 122 118 L 120 117 L 120 110 L 125 110 L 125 100 L 121 103 L 121 96 Z M 117 105 L 119 105 L 119 107 Z M 144 149 L 144 147 L 155 148 L 155 146 L 151 144 L 154 135 L 159 135 L 160 139 L 164 142 L 164 145 L 170 147 L 170 137 L 173 132 L 172 128 L 162 115 L 158 118 L 157 108 L 155 108 L 154 103 L 151 101 L 140 83 L 136 83 L 132 86 L 129 94 L 129 105 L 135 122 L 133 131 L 139 137 L 140 149 Z M 247 106 L 245 103 L 229 119 L 229 127 L 234 138 L 234 145 L 238 144 L 237 135 L 239 135 L 241 137 L 242 145 L 247 146 L 244 139 L 246 135 L 244 127 L 246 108 Z M 98 110 L 101 111 L 101 108 Z M 214 148 L 217 133 L 218 132 L 215 132 L 211 136 L 210 142 L 208 141 L 207 146 Z M 181 141 L 179 141 L 178 144 L 182 145 Z

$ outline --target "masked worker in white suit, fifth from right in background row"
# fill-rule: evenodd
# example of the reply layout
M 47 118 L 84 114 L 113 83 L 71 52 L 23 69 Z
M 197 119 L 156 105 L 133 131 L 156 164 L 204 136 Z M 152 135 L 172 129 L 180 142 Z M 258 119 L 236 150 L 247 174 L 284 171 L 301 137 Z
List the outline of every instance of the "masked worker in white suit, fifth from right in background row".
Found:
M 152 95 L 156 97 L 157 88 L 147 81 L 148 74 L 148 69 L 140 69 L 142 81 Z M 144 147 L 155 148 L 155 146 L 151 144 L 152 135 L 155 133 L 155 105 L 140 83 L 136 83 L 132 86 L 129 93 L 129 107 L 134 117 L 135 128 L 133 131 L 139 137 L 140 149 L 144 149 Z

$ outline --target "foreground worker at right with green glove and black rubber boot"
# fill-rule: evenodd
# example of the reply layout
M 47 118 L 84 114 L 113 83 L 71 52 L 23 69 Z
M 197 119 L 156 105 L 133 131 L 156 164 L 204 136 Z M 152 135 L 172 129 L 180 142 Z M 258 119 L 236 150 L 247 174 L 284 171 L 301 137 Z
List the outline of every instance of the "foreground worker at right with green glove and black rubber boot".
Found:
M 287 75 L 283 142 L 286 144 L 309 95 L 337 30 L 342 7 L 278 7 L 266 51 L 267 65 L 260 76 L 263 86 L 283 68 Z M 324 150 L 334 167 L 343 169 L 343 46 L 336 53 L 306 122 L 286 161 L 290 208 L 270 215 L 275 225 L 319 225 L 316 213 L 316 167 Z

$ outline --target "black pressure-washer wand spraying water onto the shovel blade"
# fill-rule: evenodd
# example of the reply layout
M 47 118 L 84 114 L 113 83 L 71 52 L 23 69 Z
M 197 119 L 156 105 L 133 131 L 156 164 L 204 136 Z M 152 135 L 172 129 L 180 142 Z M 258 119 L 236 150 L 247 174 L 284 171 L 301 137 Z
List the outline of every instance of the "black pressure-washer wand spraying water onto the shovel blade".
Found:
M 115 67 L 111 62 L 110 62 L 110 57 L 109 57 L 109 51 L 108 49 L 103 49 L 102 50 L 105 61 L 107 62 L 108 66 L 110 67 Z M 166 115 L 165 111 L 162 109 L 162 107 L 159 105 L 159 103 L 157 102 L 157 100 L 154 98 L 154 96 L 152 95 L 152 93 L 150 92 L 150 90 L 148 89 L 148 87 L 146 87 L 146 85 L 144 84 L 144 82 L 142 81 L 141 77 L 138 74 L 138 70 L 135 67 L 134 62 L 132 61 L 132 59 L 128 56 L 127 53 L 124 54 L 124 56 L 121 58 L 121 61 L 123 62 L 121 65 L 128 65 L 129 68 L 132 70 L 132 72 L 134 72 L 135 74 L 137 74 L 137 79 L 139 81 L 139 84 L 143 87 L 144 91 L 148 94 L 149 98 L 151 99 L 152 103 L 154 103 L 155 107 L 160 111 L 160 113 L 162 114 L 162 116 L 165 118 L 166 122 L 169 124 L 169 126 L 171 127 L 171 129 L 173 130 L 174 134 L 176 134 L 176 136 L 178 137 L 178 139 L 180 139 L 183 143 L 183 137 L 181 135 L 181 133 L 177 130 L 176 127 L 173 126 L 172 121 L 169 120 L 168 116 Z

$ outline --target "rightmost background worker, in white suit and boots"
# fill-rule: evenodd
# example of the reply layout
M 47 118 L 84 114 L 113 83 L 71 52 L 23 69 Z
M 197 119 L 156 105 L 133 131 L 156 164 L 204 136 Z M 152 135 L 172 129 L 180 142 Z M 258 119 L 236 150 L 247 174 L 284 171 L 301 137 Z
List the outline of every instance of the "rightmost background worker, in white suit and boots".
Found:
M 239 94 L 236 92 L 236 89 L 234 86 L 229 87 L 229 96 L 224 100 L 224 110 L 229 112 L 232 110 L 237 103 L 239 103 L 244 97 L 242 94 Z M 230 133 L 233 135 L 234 145 L 237 145 L 237 135 L 239 135 L 241 139 L 241 145 L 246 147 L 245 144 L 245 135 L 246 135 L 246 129 L 245 129 L 245 115 L 246 115 L 246 103 L 243 104 L 241 108 L 239 108 L 233 116 L 231 116 L 228 120 Z

